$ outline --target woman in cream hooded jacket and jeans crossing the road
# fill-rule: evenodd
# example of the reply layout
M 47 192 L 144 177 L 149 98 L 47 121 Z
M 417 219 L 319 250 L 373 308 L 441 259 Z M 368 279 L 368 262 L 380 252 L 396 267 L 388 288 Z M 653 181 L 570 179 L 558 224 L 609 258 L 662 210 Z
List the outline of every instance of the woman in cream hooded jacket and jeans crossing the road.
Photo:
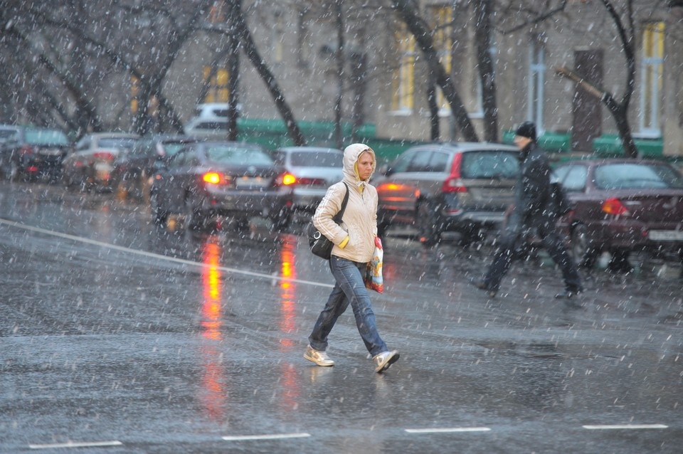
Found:
M 377 236 L 377 191 L 368 183 L 375 166 L 375 152 L 367 145 L 346 147 L 344 180 L 327 189 L 313 215 L 315 227 L 334 243 L 329 269 L 337 281 L 308 337 L 309 345 L 304 354 L 305 359 L 318 366 L 334 366 L 334 361 L 325 352 L 327 336 L 349 304 L 354 311 L 356 327 L 374 361 L 375 371 L 385 371 L 398 360 L 398 352 L 390 352 L 377 332 L 370 296 L 363 281 Z M 338 225 L 332 218 L 342 208 L 346 191 L 349 191 L 349 201 L 342 224 Z

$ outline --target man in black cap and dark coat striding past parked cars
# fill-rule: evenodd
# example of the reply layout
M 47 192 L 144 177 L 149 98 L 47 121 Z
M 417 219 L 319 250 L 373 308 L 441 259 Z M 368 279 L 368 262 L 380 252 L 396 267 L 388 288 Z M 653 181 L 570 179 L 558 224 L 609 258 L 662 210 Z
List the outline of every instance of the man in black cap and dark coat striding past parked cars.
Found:
M 561 236 L 556 232 L 555 221 L 558 215 L 551 203 L 551 167 L 548 157 L 536 144 L 536 125 L 533 122 L 522 123 L 515 132 L 514 143 L 521 150 L 514 209 L 485 277 L 482 280 L 473 280 L 472 283 L 494 297 L 500 281 L 515 258 L 517 246 L 524 241 L 526 233 L 534 231 L 562 271 L 565 290 L 555 297 L 576 297 L 583 291 L 581 276 L 576 263 L 567 253 Z

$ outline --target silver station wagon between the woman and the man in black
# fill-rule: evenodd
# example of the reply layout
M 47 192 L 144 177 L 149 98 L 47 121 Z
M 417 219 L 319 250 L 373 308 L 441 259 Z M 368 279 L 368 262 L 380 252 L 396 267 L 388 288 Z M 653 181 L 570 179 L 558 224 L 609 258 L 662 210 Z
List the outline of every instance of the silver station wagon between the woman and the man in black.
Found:
M 433 246 L 456 231 L 462 243 L 499 228 L 512 203 L 519 150 L 502 144 L 458 142 L 411 147 L 374 179 L 378 233 L 415 226 Z

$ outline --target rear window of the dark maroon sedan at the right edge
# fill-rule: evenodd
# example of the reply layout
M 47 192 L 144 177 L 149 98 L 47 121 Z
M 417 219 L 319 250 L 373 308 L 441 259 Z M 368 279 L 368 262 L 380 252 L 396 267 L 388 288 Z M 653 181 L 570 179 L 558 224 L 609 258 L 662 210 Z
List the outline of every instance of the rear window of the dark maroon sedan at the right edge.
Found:
M 605 164 L 595 169 L 599 189 L 683 189 L 683 176 L 662 164 Z

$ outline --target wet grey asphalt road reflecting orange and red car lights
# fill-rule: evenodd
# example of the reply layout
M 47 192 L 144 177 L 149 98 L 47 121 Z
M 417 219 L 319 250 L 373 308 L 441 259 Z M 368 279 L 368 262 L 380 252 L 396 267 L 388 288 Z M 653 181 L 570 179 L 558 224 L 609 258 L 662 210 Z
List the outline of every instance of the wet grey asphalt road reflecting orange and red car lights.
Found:
M 680 453 L 676 263 L 468 285 L 491 248 L 386 240 L 375 374 L 351 311 L 302 352 L 332 285 L 302 225 L 191 235 L 112 194 L 0 182 L 2 453 Z

